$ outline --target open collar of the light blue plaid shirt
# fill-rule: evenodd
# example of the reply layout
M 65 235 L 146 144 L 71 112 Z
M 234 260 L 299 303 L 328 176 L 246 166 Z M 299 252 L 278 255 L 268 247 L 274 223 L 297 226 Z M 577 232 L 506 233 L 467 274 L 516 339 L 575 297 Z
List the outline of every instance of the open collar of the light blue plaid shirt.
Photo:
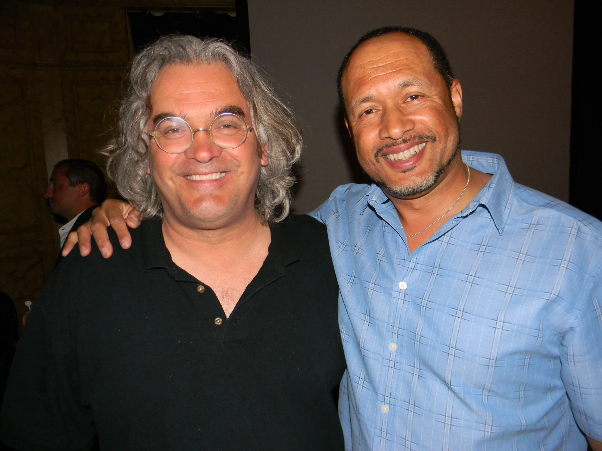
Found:
M 491 219 L 501 235 L 510 213 L 510 199 L 514 186 L 514 180 L 510 176 L 506 162 L 500 155 L 495 153 L 472 152 L 470 150 L 462 150 L 462 161 L 477 171 L 492 174 L 492 177 L 462 210 L 461 215 L 467 216 L 477 207 L 483 206 L 491 215 Z M 386 203 L 388 200 L 389 198 L 386 197 L 380 186 L 373 183 L 362 198 L 359 212 L 363 215 L 368 205 L 376 208 L 378 204 Z

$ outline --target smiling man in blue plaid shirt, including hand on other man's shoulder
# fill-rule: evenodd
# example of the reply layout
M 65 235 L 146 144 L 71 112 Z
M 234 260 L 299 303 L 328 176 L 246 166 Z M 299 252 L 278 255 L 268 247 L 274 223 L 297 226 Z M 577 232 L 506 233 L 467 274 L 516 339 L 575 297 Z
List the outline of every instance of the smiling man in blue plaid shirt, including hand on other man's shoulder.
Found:
M 600 221 L 460 152 L 462 88 L 429 34 L 369 32 L 338 86 L 375 180 L 311 213 L 340 286 L 348 449 L 585 450 L 581 429 L 601 450 Z

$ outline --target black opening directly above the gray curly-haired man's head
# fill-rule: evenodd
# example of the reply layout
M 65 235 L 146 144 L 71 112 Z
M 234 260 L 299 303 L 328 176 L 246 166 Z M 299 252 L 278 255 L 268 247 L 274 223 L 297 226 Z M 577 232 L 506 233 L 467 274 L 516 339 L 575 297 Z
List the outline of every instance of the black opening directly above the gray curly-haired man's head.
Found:
M 218 11 L 128 11 L 134 51 L 168 34 L 221 38 L 234 44 L 240 54 L 250 54 L 247 2 L 237 0 L 236 10 Z

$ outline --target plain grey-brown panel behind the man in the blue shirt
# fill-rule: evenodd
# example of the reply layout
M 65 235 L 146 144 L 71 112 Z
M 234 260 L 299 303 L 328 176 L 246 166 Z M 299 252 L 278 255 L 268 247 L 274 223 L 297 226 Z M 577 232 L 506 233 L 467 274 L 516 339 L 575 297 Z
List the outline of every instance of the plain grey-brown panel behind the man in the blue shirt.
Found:
M 341 139 L 335 76 L 353 43 L 384 25 L 428 31 L 448 52 L 464 90 L 463 149 L 500 153 L 517 182 L 568 201 L 572 1 L 248 4 L 251 51 L 303 121 L 297 212 L 362 180 Z

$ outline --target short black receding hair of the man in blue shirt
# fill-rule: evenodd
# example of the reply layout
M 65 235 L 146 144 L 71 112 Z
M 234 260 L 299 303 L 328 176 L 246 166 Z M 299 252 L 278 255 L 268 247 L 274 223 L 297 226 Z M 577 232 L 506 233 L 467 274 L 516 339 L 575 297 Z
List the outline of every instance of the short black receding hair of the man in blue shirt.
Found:
M 389 34 L 394 32 L 406 33 L 410 34 L 416 38 L 418 38 L 428 49 L 430 57 L 433 60 L 433 69 L 435 72 L 441 75 L 443 81 L 445 82 L 445 86 L 449 90 L 452 87 L 452 82 L 454 80 L 452 66 L 450 65 L 449 60 L 447 59 L 447 54 L 441 47 L 441 44 L 430 34 L 425 31 L 420 31 L 415 28 L 408 28 L 407 26 L 383 26 L 382 28 L 373 29 L 372 31 L 368 31 L 364 34 L 359 40 L 355 43 L 355 45 L 351 48 L 351 50 L 345 55 L 343 58 L 343 63 L 341 63 L 341 67 L 339 67 L 338 75 L 337 75 L 337 91 L 339 96 L 339 102 L 341 103 L 341 109 L 343 109 L 344 117 L 347 117 L 347 111 L 345 109 L 345 99 L 343 98 L 343 89 L 341 88 L 341 78 L 343 78 L 343 72 L 347 67 L 347 63 L 349 63 L 349 58 L 355 52 L 355 49 L 359 47 L 359 44 L 367 41 L 368 39 L 382 36 L 383 34 Z

